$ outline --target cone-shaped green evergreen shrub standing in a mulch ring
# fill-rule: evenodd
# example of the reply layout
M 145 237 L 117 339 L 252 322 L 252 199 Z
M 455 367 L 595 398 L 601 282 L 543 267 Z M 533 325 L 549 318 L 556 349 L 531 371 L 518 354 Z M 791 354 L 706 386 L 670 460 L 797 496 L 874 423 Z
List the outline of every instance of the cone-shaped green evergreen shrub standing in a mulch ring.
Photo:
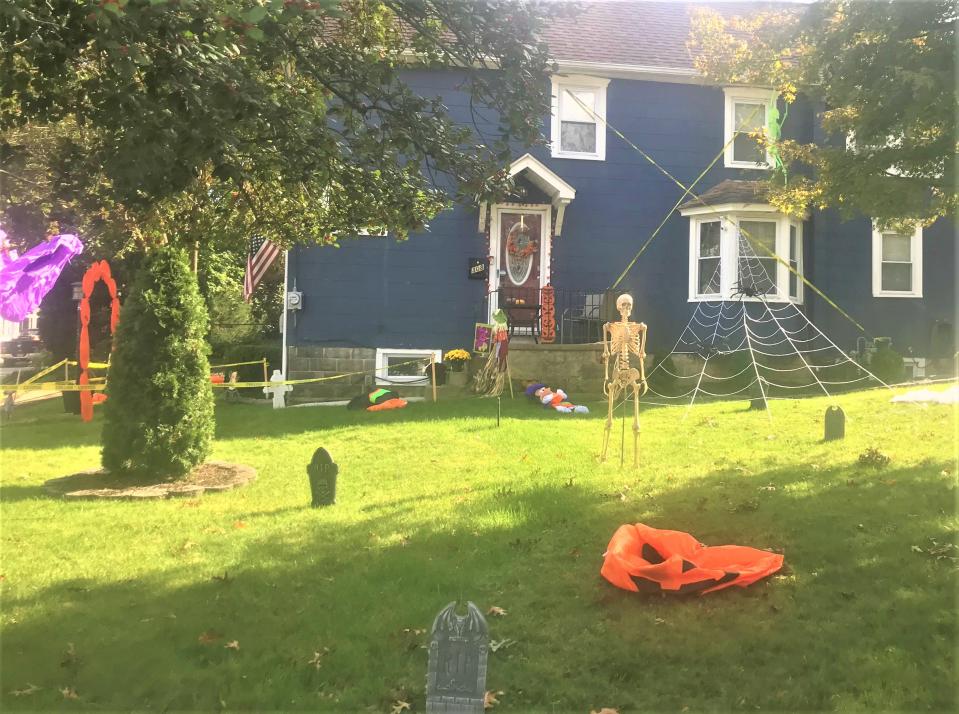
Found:
M 182 476 L 213 438 L 207 314 L 186 254 L 151 251 L 123 305 L 107 386 L 103 466 Z

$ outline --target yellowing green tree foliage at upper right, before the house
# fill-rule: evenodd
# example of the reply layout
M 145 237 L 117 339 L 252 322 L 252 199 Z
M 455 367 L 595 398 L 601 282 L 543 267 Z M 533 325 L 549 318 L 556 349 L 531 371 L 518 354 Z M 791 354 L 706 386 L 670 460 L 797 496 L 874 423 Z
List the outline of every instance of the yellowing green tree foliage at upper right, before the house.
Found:
M 723 17 L 700 11 L 690 49 L 721 83 L 801 91 L 824 106 L 829 141 L 780 141 L 805 170 L 771 200 L 787 212 L 833 206 L 881 223 L 955 215 L 956 22 L 954 0 L 823 0 Z

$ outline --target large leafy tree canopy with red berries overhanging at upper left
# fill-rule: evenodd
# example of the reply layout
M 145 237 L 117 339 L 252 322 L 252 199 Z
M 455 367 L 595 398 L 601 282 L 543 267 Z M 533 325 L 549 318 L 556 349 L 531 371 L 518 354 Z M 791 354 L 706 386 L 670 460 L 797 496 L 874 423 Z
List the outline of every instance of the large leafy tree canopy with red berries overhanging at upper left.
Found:
M 510 143 L 541 140 L 548 8 L 10 0 L 0 201 L 66 213 L 114 248 L 176 239 L 202 211 L 285 244 L 371 225 L 405 236 L 456 197 L 502 189 Z M 413 92 L 413 66 L 455 67 L 483 122 Z

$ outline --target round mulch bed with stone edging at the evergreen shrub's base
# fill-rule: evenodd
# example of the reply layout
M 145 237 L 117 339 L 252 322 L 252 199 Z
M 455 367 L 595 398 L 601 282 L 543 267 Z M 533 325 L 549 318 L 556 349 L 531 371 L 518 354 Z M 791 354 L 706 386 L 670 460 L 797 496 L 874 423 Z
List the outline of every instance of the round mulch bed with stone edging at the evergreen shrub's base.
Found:
M 252 466 L 208 461 L 176 480 L 144 482 L 99 469 L 51 479 L 43 486 L 51 495 L 68 499 L 172 498 L 229 491 L 244 486 L 255 478 L 256 469 Z

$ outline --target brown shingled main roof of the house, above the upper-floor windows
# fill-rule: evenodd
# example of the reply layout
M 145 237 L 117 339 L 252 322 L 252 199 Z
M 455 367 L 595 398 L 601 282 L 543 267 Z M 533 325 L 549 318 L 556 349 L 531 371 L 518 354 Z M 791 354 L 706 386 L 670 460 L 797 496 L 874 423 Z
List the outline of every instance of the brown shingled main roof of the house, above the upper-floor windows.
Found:
M 565 1 L 565 0 L 564 0 Z M 572 3 L 570 3 L 572 4 Z M 772 7 L 776 3 L 768 3 Z M 692 13 L 709 8 L 725 16 L 751 15 L 766 3 L 683 3 L 590 0 L 544 29 L 543 39 L 560 62 L 618 64 L 694 70 L 686 48 Z M 781 5 L 780 5 L 781 7 Z

